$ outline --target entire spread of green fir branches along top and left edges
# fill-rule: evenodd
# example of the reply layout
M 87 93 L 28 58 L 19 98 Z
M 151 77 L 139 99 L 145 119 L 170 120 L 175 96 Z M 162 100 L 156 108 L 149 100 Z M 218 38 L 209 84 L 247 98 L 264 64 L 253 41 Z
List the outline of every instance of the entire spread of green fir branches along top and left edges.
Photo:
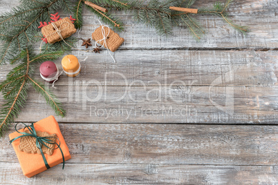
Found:
M 76 19 L 75 27 L 82 28 L 82 9 L 85 0 L 21 0 L 21 5 L 13 8 L 12 11 L 0 15 L 0 64 L 17 65 L 7 75 L 6 80 L 0 83 L 0 91 L 5 104 L 0 109 L 0 137 L 8 128 L 10 123 L 20 113 L 21 108 L 26 103 L 28 85 L 32 84 L 35 90 L 44 96 L 55 113 L 64 116 L 65 110 L 50 90 L 33 79 L 33 71 L 37 64 L 46 60 L 54 60 L 64 52 L 71 52 L 76 39 L 69 37 L 64 41 L 54 44 L 44 43 L 41 47 L 41 54 L 35 55 L 33 44 L 35 41 L 41 42 L 39 22 L 50 21 L 50 13 L 63 10 L 68 14 L 73 14 Z M 101 12 L 90 6 L 91 12 L 98 15 L 104 23 L 115 26 L 117 30 L 122 30 L 122 22 L 111 15 L 110 10 L 132 11 L 136 21 L 145 23 L 156 28 L 159 35 L 169 35 L 172 28 L 176 26 L 186 26 L 189 32 L 196 38 L 201 38 L 205 34 L 196 17 L 185 12 L 169 10 L 169 6 L 191 8 L 195 0 L 88 0 L 98 6 L 108 8 L 109 12 Z M 232 0 L 226 3 L 214 3 L 212 8 L 199 8 L 198 14 L 208 14 L 221 17 L 228 25 L 239 32 L 248 32 L 245 26 L 233 23 L 226 12 Z M 75 6 L 72 6 L 72 3 Z M 74 8 L 73 8 L 74 7 Z M 197 14 L 197 15 L 198 15 Z M 39 32 L 39 34 L 38 34 Z

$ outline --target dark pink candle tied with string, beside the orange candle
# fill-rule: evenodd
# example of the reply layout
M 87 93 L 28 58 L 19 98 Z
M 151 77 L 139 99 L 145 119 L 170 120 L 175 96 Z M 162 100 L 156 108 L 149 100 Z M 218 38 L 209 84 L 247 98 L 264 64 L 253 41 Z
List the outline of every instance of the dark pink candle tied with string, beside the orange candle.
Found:
M 48 83 L 53 83 L 53 81 L 59 78 L 59 69 L 53 61 L 45 61 L 41 64 L 39 72 L 41 72 L 41 78 Z

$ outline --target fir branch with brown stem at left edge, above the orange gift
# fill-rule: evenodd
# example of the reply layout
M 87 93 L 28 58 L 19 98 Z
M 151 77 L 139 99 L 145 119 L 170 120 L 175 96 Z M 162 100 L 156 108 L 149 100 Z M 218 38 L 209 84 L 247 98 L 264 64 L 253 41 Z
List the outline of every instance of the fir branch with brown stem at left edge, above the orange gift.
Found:
M 14 117 L 19 115 L 20 109 L 24 106 L 27 97 L 28 83 L 30 82 L 37 92 L 41 93 L 48 104 L 55 110 L 57 115 L 64 117 L 65 110 L 62 108 L 59 101 L 49 90 L 36 82 L 30 77 L 33 69 L 37 66 L 38 62 L 44 60 L 53 60 L 61 57 L 64 52 L 58 50 L 55 52 L 44 52 L 39 55 L 35 55 L 30 46 L 27 46 L 25 51 L 22 51 L 15 58 L 19 61 L 19 65 L 13 68 L 7 75 L 5 81 L 0 84 L 0 91 L 3 94 L 3 98 L 6 104 L 0 110 L 0 137 L 4 131 L 10 125 L 10 122 Z

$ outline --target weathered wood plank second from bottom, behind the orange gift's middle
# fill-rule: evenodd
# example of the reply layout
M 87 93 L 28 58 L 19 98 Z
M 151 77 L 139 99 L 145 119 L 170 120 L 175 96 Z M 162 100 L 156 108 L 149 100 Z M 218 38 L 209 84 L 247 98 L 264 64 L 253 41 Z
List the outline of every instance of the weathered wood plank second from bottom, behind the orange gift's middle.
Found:
M 17 162 L 8 142 L 14 126 L 0 143 L 0 162 Z M 278 126 L 61 123 L 59 126 L 72 155 L 68 162 L 74 164 L 278 164 Z

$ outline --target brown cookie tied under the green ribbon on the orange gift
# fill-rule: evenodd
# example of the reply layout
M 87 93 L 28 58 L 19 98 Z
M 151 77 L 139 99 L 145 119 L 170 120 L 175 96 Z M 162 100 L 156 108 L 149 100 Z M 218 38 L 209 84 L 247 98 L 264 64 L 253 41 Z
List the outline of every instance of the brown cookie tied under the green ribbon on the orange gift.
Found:
M 24 131 L 25 133 L 30 133 L 29 130 Z M 49 137 L 48 139 L 51 140 L 51 142 L 56 142 L 56 135 L 50 135 L 46 132 L 41 132 L 41 131 L 36 131 L 37 136 L 39 137 Z M 47 155 L 52 155 L 54 148 L 55 148 L 55 144 L 48 144 L 48 143 L 44 143 L 46 144 L 46 146 L 48 146 L 49 148 L 47 148 L 46 146 L 42 145 L 41 149 L 43 151 L 43 153 L 46 153 Z M 36 138 L 35 137 L 31 137 L 31 136 L 26 136 L 26 137 L 21 137 L 20 141 L 19 141 L 19 150 L 24 151 L 25 153 L 40 153 L 39 148 L 37 148 L 36 146 Z

